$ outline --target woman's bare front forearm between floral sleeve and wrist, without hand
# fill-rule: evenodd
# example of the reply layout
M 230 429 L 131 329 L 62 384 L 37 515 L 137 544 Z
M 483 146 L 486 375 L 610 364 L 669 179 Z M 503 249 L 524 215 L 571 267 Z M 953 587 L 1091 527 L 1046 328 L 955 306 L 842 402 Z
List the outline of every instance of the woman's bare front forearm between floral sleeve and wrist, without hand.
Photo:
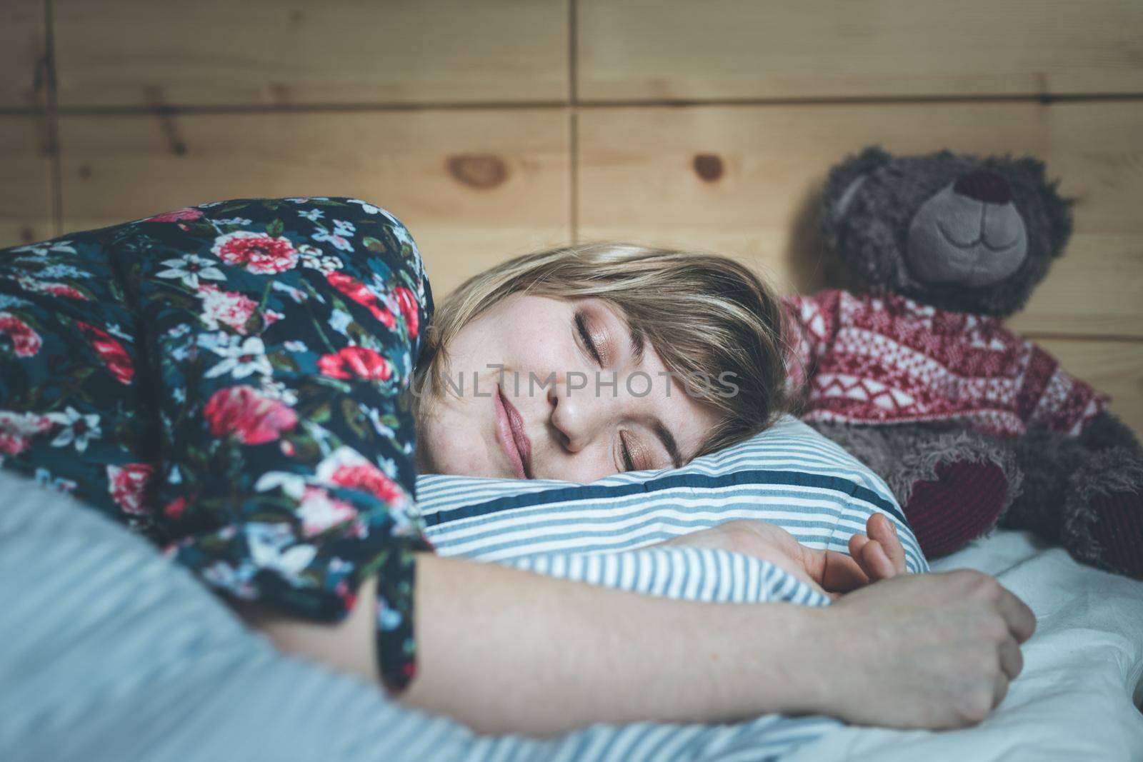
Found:
M 792 669 L 804 607 L 676 601 L 430 555 L 416 605 L 418 671 L 401 700 L 483 732 L 810 704 Z

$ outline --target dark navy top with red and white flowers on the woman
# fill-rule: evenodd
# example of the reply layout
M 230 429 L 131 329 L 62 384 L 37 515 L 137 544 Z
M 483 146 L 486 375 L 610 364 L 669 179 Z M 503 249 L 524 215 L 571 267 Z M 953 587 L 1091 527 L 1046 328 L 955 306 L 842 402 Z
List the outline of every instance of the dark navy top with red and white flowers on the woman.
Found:
M 206 584 L 322 621 L 378 579 L 415 672 L 414 364 L 432 294 L 355 199 L 203 203 L 0 250 L 0 462 Z

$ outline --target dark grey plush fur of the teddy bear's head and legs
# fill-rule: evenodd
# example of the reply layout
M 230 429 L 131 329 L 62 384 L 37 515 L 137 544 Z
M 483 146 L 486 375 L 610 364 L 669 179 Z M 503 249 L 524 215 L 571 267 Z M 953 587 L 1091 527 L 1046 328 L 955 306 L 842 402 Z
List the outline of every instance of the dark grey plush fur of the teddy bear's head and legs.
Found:
M 972 178 L 980 182 L 974 184 Z M 937 206 L 956 193 L 960 195 L 953 203 Z M 1020 219 L 1013 219 L 1013 207 Z M 918 215 L 922 208 L 929 210 L 927 217 Z M 934 216 L 934 209 L 951 211 L 941 218 Z M 962 212 L 959 219 L 958 209 Z M 975 209 L 980 209 L 978 225 Z M 992 273 L 966 259 L 968 268 L 962 266 L 961 272 L 967 276 L 952 282 L 942 280 L 956 271 L 950 263 L 919 258 L 956 258 L 962 249 L 968 251 L 964 255 L 967 258 L 992 250 L 956 246 L 956 240 L 948 242 L 952 240 L 948 235 L 944 240 L 936 234 L 910 238 L 911 226 L 916 233 L 922 222 L 933 218 L 960 224 L 969 239 L 978 226 L 980 240 L 988 242 L 986 219 L 992 212 L 1007 215 L 994 218 L 1006 223 L 996 230 L 1016 230 L 1022 223 L 1026 249 L 1018 251 L 1016 259 L 1001 263 Z M 1049 181 L 1044 163 L 1031 157 L 948 151 L 894 157 L 874 146 L 847 158 L 830 173 L 821 225 L 825 241 L 868 287 L 896 291 L 943 310 L 1002 318 L 1024 306 L 1063 252 L 1072 217 L 1071 201 L 1058 194 L 1057 182 Z M 943 230 L 938 232 L 944 235 Z M 919 249 L 918 240 L 932 250 Z M 1009 266 L 1020 257 L 1018 266 Z M 988 265 L 985 259 L 980 257 L 978 262 Z M 913 486 L 934 479 L 938 464 L 956 459 L 996 463 L 1009 482 L 1001 526 L 1034 530 L 1064 545 L 1076 558 L 1104 568 L 1109 568 L 1104 550 L 1092 534 L 1098 521 L 1093 498 L 1143 495 L 1143 448 L 1127 426 L 1106 412 L 1080 436 L 1034 428 L 1016 439 L 920 425 L 820 424 L 817 428 L 885 478 L 906 515 Z M 1132 539 L 1143 544 L 1143 538 Z

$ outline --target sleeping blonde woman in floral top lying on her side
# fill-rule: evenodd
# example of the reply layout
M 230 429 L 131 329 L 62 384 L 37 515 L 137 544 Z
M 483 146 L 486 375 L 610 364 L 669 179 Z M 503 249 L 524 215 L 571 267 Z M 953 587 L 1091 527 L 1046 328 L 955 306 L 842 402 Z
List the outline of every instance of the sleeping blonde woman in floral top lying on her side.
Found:
M 849 555 L 759 522 L 672 540 L 770 561 L 825 608 L 656 599 L 425 539 L 418 472 L 590 482 L 762 431 L 782 335 L 722 257 L 553 249 L 434 311 L 379 207 L 207 203 L 0 251 L 0 458 L 144 534 L 282 650 L 478 731 L 983 719 L 1031 611 L 985 575 L 902 573 L 881 516 Z

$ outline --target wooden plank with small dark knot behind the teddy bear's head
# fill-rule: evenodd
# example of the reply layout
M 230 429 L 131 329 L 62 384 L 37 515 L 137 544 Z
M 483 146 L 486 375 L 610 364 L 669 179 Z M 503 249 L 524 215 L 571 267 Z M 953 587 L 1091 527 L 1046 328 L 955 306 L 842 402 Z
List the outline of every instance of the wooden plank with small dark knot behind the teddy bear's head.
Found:
M 1031 153 L 1077 198 L 1076 233 L 1013 327 L 1143 337 L 1143 103 L 597 107 L 578 122 L 581 238 L 721 251 L 783 289 L 838 281 L 817 204 L 848 153 Z

